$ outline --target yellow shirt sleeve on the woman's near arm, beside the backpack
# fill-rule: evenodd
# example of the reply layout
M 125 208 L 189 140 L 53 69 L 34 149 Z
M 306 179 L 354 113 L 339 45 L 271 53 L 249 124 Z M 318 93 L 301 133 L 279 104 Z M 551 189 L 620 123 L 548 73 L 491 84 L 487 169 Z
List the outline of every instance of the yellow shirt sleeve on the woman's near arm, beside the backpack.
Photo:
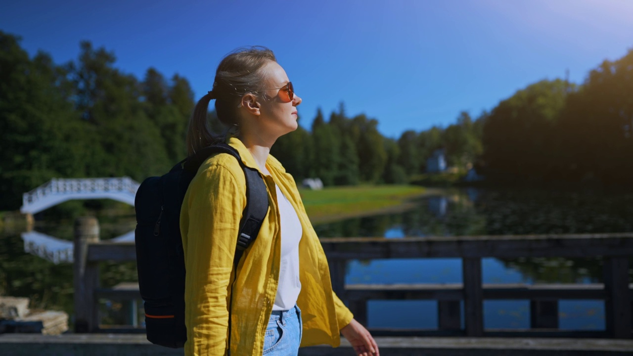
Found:
M 222 165 L 198 172 L 181 213 L 185 251 L 185 355 L 224 355 L 230 281 L 244 189 Z

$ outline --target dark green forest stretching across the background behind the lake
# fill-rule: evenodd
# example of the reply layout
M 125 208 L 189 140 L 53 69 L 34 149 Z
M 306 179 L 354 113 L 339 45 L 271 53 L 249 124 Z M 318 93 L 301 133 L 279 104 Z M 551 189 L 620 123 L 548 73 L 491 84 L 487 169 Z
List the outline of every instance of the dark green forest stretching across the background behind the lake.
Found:
M 0 32 L 0 210 L 53 177 L 165 173 L 186 154 L 195 99 L 180 75 L 148 68 L 142 79 L 115 66 L 115 54 L 80 44 L 78 58 L 29 56 Z M 454 172 L 477 168 L 486 182 L 617 184 L 633 180 L 633 51 L 604 61 L 582 84 L 541 80 L 448 127 L 384 137 L 378 121 L 349 117 L 341 103 L 316 113 L 310 130 L 280 137 L 272 154 L 297 181 L 326 186 L 416 181 L 444 149 Z M 211 126 L 222 128 L 210 112 Z M 394 118 L 380 118 L 394 120 Z

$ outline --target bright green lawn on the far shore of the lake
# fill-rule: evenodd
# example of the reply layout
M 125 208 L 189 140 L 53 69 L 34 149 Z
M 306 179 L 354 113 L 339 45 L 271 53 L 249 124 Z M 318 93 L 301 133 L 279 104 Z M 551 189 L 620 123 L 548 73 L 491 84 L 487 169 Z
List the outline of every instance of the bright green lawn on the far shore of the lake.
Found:
M 410 198 L 425 193 L 420 186 L 349 186 L 320 191 L 301 189 L 301 198 L 314 223 L 372 215 L 406 208 Z

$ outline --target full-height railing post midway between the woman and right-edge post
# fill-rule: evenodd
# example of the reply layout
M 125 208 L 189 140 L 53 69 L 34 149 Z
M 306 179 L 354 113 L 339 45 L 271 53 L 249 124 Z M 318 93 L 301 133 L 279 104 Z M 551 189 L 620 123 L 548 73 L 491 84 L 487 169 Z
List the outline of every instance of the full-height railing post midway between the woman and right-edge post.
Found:
M 484 290 L 482 289 L 481 258 L 462 258 L 464 279 L 464 316 L 467 336 L 484 334 Z

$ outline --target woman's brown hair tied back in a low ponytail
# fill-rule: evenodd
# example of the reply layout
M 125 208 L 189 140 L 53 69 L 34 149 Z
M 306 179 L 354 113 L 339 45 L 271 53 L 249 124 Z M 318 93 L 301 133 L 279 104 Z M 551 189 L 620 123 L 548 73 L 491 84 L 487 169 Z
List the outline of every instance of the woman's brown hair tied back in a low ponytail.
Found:
M 237 106 L 244 94 L 263 90 L 263 67 L 270 61 L 277 61 L 275 54 L 268 48 L 254 46 L 241 48 L 228 54 L 218 65 L 213 81 L 213 89 L 207 92 L 196 104 L 189 119 L 187 129 L 187 153 L 197 151 L 216 141 L 218 136 L 211 132 L 207 120 L 209 101 L 215 99 L 215 111 L 222 124 L 235 127 Z

